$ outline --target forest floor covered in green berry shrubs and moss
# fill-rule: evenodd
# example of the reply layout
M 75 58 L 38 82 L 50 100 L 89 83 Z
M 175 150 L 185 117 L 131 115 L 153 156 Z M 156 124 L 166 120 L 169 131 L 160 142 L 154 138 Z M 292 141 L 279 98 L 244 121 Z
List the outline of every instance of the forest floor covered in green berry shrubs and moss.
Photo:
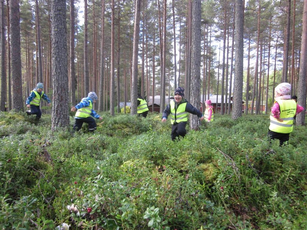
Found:
M 91 134 L 0 113 L 0 229 L 307 229 L 305 126 L 279 147 L 268 115 L 179 141 L 158 113 L 101 115 Z

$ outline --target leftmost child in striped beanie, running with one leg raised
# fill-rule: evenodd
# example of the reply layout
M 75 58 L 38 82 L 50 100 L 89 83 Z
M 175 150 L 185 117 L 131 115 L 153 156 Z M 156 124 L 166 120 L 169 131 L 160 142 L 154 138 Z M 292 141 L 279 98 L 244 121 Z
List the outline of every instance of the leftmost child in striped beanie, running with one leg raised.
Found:
M 48 96 L 43 91 L 44 85 L 41 82 L 38 82 L 36 88 L 33 89 L 30 93 L 30 96 L 27 98 L 26 106 L 30 110 L 25 111 L 28 115 L 36 115 L 36 119 L 39 120 L 41 118 L 41 108 L 40 102 L 41 99 L 44 99 L 48 102 L 48 106 L 51 105 L 51 101 Z

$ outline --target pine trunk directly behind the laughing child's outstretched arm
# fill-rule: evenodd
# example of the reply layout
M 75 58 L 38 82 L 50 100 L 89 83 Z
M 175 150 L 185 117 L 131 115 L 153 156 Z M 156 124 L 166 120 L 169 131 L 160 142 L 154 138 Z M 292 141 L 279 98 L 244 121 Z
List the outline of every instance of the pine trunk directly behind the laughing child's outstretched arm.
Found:
M 191 104 L 200 108 L 200 40 L 201 40 L 201 1 L 193 0 L 192 5 L 192 47 L 191 47 Z M 200 120 L 190 115 L 190 128 L 198 130 Z

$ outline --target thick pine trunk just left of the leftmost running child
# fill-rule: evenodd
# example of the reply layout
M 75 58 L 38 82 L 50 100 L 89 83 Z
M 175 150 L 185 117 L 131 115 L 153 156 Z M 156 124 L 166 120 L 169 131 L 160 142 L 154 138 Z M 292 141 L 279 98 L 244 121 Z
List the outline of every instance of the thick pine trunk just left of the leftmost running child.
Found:
M 19 0 L 10 0 L 10 27 L 12 31 L 12 86 L 13 106 L 16 111 L 23 111 L 22 77 L 21 77 L 21 50 L 20 50 L 20 18 Z

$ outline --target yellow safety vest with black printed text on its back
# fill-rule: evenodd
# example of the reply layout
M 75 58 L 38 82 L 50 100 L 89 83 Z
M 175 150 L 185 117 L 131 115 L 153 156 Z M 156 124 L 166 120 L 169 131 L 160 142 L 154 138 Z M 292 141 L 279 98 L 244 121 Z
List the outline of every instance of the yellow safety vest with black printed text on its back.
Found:
M 294 100 L 277 100 L 275 102 L 279 104 L 280 119 L 283 122 L 279 122 L 271 114 L 269 130 L 277 133 L 291 133 L 293 131 L 293 117 L 296 113 L 296 102 Z

